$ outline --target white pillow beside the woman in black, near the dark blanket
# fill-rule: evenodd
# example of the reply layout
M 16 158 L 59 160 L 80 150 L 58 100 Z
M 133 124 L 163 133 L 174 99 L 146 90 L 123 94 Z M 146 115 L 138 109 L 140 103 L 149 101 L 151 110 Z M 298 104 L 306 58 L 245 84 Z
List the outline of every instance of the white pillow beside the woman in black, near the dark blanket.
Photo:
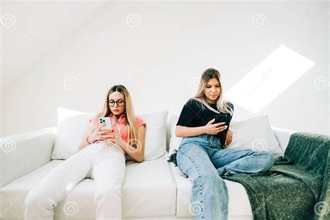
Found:
M 230 129 L 233 131 L 233 141 L 228 145 L 228 149 L 267 150 L 272 152 L 273 157 L 283 156 L 267 113 L 261 113 L 245 120 L 232 121 Z

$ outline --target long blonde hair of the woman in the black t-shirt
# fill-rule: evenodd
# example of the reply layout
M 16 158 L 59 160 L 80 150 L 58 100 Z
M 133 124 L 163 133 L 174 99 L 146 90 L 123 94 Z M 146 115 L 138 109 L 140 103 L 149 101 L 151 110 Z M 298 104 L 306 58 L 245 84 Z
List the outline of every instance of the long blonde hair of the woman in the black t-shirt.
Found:
M 207 81 L 213 78 L 217 79 L 220 83 L 220 95 L 217 99 L 217 109 L 213 109 L 212 107 L 210 107 L 210 105 L 207 103 L 204 93 L 204 89 L 206 87 Z M 223 113 L 230 113 L 230 115 L 233 115 L 233 108 L 230 106 L 230 102 L 223 100 L 223 84 L 222 84 L 220 72 L 214 68 L 208 68 L 203 72 L 197 93 L 192 99 L 203 103 L 201 104 L 202 109 L 207 107 L 207 109 L 210 109 L 215 113 L 223 112 Z

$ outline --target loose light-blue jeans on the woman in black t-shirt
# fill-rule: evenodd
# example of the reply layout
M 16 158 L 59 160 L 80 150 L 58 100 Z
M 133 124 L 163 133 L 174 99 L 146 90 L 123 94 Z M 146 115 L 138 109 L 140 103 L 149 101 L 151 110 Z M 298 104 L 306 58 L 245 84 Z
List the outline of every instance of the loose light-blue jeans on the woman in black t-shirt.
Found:
M 245 148 L 220 149 L 212 134 L 184 137 L 177 154 L 178 167 L 192 182 L 192 204 L 195 219 L 228 219 L 228 189 L 219 175 L 258 173 L 274 164 L 267 151 Z

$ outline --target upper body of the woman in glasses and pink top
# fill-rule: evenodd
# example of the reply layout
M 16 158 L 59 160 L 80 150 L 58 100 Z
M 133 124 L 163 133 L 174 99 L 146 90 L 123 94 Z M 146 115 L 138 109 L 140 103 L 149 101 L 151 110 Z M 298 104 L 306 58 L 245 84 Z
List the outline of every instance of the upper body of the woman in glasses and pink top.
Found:
M 131 96 L 125 86 L 113 86 L 108 91 L 103 111 L 90 118 L 93 129 L 88 129 L 86 142 L 104 142 L 108 146 L 119 147 L 125 158 L 128 156 L 136 162 L 142 162 L 144 158 L 144 136 L 146 134 L 146 123 L 134 115 Z M 111 130 L 100 130 L 99 119 L 109 117 L 111 120 Z M 141 125 L 145 125 L 142 126 Z M 85 141 L 81 143 L 78 150 L 84 148 Z

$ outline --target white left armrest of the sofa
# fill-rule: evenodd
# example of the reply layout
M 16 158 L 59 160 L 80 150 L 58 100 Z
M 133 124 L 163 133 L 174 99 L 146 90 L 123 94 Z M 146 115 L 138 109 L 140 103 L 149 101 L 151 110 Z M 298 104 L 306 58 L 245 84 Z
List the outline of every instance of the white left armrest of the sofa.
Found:
M 0 139 L 0 188 L 51 161 L 57 127 Z

